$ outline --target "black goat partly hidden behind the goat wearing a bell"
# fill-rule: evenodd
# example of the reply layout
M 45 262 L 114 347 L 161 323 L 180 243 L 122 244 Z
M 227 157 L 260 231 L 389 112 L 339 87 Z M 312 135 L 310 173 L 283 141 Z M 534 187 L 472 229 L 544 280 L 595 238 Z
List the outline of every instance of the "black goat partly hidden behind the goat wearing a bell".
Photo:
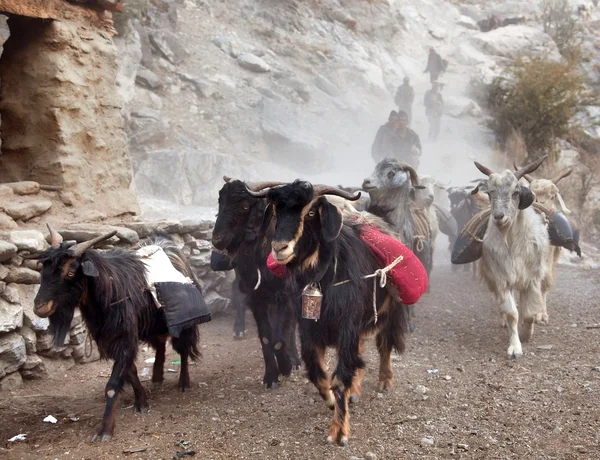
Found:
M 283 292 L 283 281 L 266 266 L 273 233 L 262 225 L 266 200 L 251 196 L 244 182 L 224 179 L 212 243 L 232 260 L 239 289 L 258 328 L 265 360 L 263 384 L 275 388 L 280 375 L 288 376 L 294 366 L 300 366 L 296 320 Z

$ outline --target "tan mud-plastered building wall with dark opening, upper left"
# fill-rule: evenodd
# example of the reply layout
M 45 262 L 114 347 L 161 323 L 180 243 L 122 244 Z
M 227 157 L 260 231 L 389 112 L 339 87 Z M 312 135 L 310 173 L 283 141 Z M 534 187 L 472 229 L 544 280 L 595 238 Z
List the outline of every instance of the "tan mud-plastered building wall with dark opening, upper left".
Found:
M 65 17 L 42 20 L 54 9 L 33 3 L 41 2 L 0 2 L 0 12 L 18 4 L 17 14 L 38 15 L 8 20 L 0 60 L 3 181 L 62 186 L 63 202 L 84 218 L 90 207 L 107 216 L 137 213 L 110 19 L 60 2 Z

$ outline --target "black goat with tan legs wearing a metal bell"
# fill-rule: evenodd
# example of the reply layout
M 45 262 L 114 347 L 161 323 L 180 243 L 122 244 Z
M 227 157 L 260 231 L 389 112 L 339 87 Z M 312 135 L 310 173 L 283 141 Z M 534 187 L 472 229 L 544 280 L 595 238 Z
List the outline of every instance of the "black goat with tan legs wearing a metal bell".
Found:
M 391 352 L 404 351 L 406 332 L 402 306 L 385 288 L 365 275 L 380 268 L 373 252 L 361 240 L 359 223 L 345 223 L 341 211 L 324 195 L 355 200 L 343 190 L 295 181 L 270 190 L 249 190 L 256 197 L 268 197 L 265 221 L 276 221 L 271 255 L 287 266 L 286 290 L 295 301 L 302 360 L 308 378 L 325 403 L 334 409 L 328 440 L 348 443 L 350 432 L 348 402 L 357 400 L 365 362 L 364 342 L 377 331 L 381 362 L 379 390 L 392 386 Z M 270 215 L 269 215 L 270 213 Z M 336 285 L 337 282 L 349 282 Z M 323 298 L 318 321 L 303 319 L 301 294 L 310 283 L 318 283 Z M 373 283 L 376 287 L 378 321 L 375 322 Z M 325 367 L 325 350 L 335 347 L 338 363 L 331 380 Z

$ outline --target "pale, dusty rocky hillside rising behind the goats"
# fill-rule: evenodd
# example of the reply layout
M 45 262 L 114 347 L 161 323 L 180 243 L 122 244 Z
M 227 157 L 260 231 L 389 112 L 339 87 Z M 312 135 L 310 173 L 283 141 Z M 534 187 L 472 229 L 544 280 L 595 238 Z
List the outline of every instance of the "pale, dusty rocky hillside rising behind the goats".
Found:
M 182 213 L 213 207 L 223 174 L 359 184 L 404 76 L 417 92 L 413 127 L 426 138 L 430 46 L 449 60 L 447 116 L 442 140 L 424 146 L 420 171 L 462 183 L 476 176 L 472 159 L 496 161 L 469 82 L 489 82 L 523 52 L 560 58 L 539 5 L 525 0 L 126 4 L 118 83 L 136 187 L 153 216 L 176 212 L 173 202 Z M 492 15 L 519 24 L 481 32 L 478 21 Z M 590 72 L 600 62 L 597 18 L 585 22 Z

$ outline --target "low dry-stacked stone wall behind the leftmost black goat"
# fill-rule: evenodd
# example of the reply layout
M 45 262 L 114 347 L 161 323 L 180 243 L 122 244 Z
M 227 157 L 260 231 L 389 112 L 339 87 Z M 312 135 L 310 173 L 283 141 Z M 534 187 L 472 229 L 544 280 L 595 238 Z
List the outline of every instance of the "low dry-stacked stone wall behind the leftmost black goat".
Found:
M 0 207 L 6 208 L 11 200 L 40 200 L 35 194 L 18 195 L 13 191 L 23 187 L 22 184 L 0 186 Z M 215 314 L 227 309 L 233 273 L 210 270 L 212 222 L 132 221 L 120 225 L 80 223 L 58 226 L 57 230 L 66 241 L 78 242 L 117 230 L 117 236 L 108 241 L 111 245 L 107 247 L 132 247 L 155 231 L 165 232 L 189 256 L 211 312 Z M 87 329 L 79 311 L 73 318 L 65 346 L 61 348 L 54 346 L 53 336 L 48 331 L 49 320 L 33 313 L 40 266 L 37 261 L 24 259 L 22 255 L 48 248 L 47 231 L 42 223 L 37 228 L 19 229 L 15 224 L 13 229 L 0 230 L 0 390 L 21 385 L 23 379 L 44 378 L 48 360 L 86 363 L 99 359 L 95 345 L 87 340 Z M 39 231 L 42 228 L 44 233 Z

